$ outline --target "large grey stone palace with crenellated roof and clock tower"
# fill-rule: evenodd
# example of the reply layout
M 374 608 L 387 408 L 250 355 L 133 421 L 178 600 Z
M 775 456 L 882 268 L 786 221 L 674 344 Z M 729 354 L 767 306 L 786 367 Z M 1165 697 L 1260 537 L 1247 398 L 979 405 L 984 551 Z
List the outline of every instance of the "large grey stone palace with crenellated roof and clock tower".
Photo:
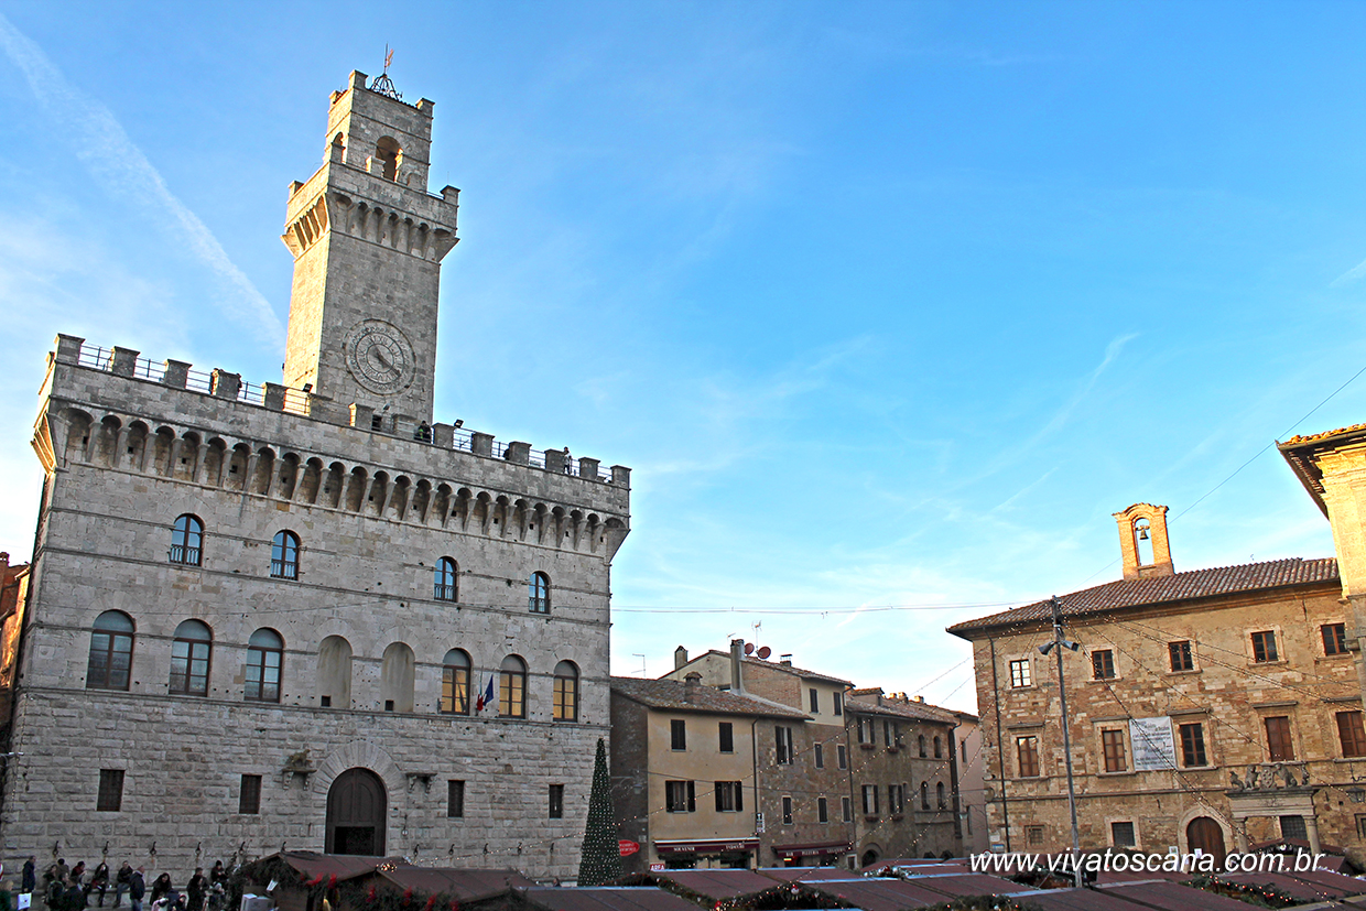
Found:
M 57 336 L 7 863 L 574 875 L 630 473 L 433 422 L 458 191 L 428 193 L 430 135 L 387 78 L 333 93 L 291 186 L 284 384 Z

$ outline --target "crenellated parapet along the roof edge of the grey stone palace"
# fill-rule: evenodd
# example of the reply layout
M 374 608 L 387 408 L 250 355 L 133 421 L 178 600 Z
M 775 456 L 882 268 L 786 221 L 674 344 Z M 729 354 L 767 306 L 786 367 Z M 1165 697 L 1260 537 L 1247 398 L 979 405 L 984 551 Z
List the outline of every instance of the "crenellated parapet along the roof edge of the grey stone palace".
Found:
M 63 369 L 72 372 L 68 378 L 52 376 Z M 111 382 L 130 384 L 130 388 L 101 395 Z M 49 355 L 44 395 L 85 406 L 86 410 L 117 406 L 123 412 L 128 411 L 130 403 L 142 402 L 148 406 L 145 414 L 128 414 L 120 422 L 150 422 L 152 433 L 156 433 L 152 425 L 161 422 L 187 425 L 180 430 L 194 432 L 202 441 L 231 433 L 253 441 L 253 451 L 258 445 L 277 447 L 281 438 L 294 441 L 290 444 L 292 448 L 299 448 L 301 440 L 310 440 L 326 458 L 351 462 L 357 460 L 359 448 L 367 456 L 362 460 L 392 466 L 391 473 L 398 467 L 436 478 L 448 477 L 454 482 L 474 481 L 490 489 L 501 486 L 526 492 L 530 486 L 545 490 L 548 496 L 556 490 L 559 500 L 620 514 L 623 519 L 628 514 L 631 470 L 624 466 L 604 471 L 598 459 L 574 459 L 567 449 L 533 449 L 531 444 L 522 441 L 499 443 L 493 434 L 469 430 L 459 422 L 426 425 L 404 415 L 376 414 L 373 408 L 359 404 L 337 408 L 335 403 L 303 389 L 275 382 L 253 384 L 243 381 L 240 374 L 221 369 L 195 370 L 182 361 L 154 362 L 130 348 L 100 348 L 75 336 L 57 336 L 56 351 Z M 168 400 L 168 395 L 175 399 Z M 98 423 L 102 415 L 92 414 L 92 419 Z M 281 419 L 302 425 L 281 428 Z M 359 440 L 355 436 L 358 432 L 363 434 Z M 55 456 L 56 452 L 45 455 L 44 462 L 52 464 Z M 531 473 L 533 477 L 507 477 L 499 483 L 499 477 L 510 470 Z M 564 488 L 566 483 L 570 486 Z M 438 485 L 440 481 L 433 488 Z M 601 493 L 593 493 L 594 489 Z M 494 500 L 497 496 L 496 492 L 492 494 Z

